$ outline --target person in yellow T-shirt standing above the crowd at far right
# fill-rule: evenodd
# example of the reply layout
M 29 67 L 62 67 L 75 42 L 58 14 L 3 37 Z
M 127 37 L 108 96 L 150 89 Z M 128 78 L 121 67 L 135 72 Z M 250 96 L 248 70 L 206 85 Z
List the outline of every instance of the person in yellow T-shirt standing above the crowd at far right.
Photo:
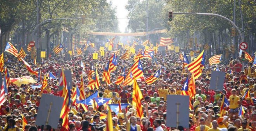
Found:
M 232 89 L 232 96 L 228 98 L 229 109 L 231 114 L 238 113 L 238 102 L 240 101 L 239 97 L 236 95 L 237 92 L 235 89 Z

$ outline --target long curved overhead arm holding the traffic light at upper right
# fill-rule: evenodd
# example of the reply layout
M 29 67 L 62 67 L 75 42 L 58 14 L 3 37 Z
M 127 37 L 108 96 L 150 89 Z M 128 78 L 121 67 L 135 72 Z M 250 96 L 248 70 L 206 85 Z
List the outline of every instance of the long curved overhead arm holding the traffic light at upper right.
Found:
M 228 22 L 230 22 L 232 25 L 234 25 L 235 29 L 237 29 L 240 38 L 242 40 L 242 42 L 244 42 L 244 37 L 242 36 L 242 33 L 240 32 L 239 28 L 237 27 L 237 25 L 235 25 L 234 22 L 232 22 L 230 19 L 228 19 L 227 17 L 224 17 L 222 15 L 218 15 L 215 13 L 187 13 L 187 12 L 173 12 L 173 14 L 185 14 L 185 15 L 211 15 L 211 16 L 217 16 L 217 17 L 221 17 L 224 18 L 225 20 L 228 20 Z

